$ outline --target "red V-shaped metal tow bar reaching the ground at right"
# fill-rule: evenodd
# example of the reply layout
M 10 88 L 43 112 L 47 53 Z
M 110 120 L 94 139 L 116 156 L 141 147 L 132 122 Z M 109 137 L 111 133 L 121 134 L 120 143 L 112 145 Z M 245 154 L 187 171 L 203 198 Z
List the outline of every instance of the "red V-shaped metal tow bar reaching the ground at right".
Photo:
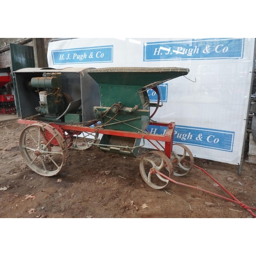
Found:
M 183 160 L 183 161 L 187 162 L 186 160 Z M 213 177 L 211 177 L 211 176 L 206 172 L 206 170 L 204 170 L 203 168 L 201 168 L 201 167 L 199 167 L 199 166 L 197 166 L 197 165 L 195 165 L 195 164 L 194 164 L 194 167 L 196 167 L 196 168 L 202 170 L 202 172 L 204 172 L 208 177 L 210 177 L 213 181 L 215 181 L 215 182 L 216 182 L 231 198 L 233 198 L 233 199 L 230 199 L 230 198 L 227 198 L 227 197 L 223 197 L 223 196 L 221 196 L 221 195 L 218 195 L 218 194 L 216 194 L 216 193 L 213 193 L 213 192 L 211 192 L 211 191 L 208 191 L 208 190 L 205 190 L 205 189 L 202 189 L 202 188 L 199 188 L 199 187 L 195 187 L 195 186 L 191 186 L 191 185 L 188 185 L 188 184 L 185 184 L 185 183 L 177 182 L 177 181 L 175 181 L 175 180 L 173 180 L 173 179 L 170 179 L 169 177 L 167 177 L 166 175 L 162 174 L 161 172 L 159 172 L 155 167 L 152 167 L 152 168 L 150 169 L 150 173 L 151 173 L 151 174 L 159 174 L 159 175 L 161 175 L 162 177 L 164 177 L 165 179 L 167 179 L 167 180 L 169 180 L 169 181 L 171 181 L 171 182 L 173 182 L 173 183 L 175 183 L 175 184 L 182 185 L 182 186 L 186 186 L 186 187 L 190 187 L 190 188 L 195 188 L 195 189 L 201 190 L 201 191 L 203 191 L 203 192 L 205 192 L 205 193 L 208 193 L 208 194 L 211 194 L 211 195 L 220 197 L 220 198 L 222 198 L 222 199 L 228 200 L 228 201 L 230 201 L 230 202 L 232 202 L 232 203 L 239 204 L 241 207 L 243 207 L 243 208 L 245 208 L 246 210 L 248 210 L 248 211 L 250 212 L 250 214 L 251 214 L 254 218 L 256 218 L 256 215 L 252 212 L 252 210 L 256 211 L 256 208 L 253 208 L 253 207 L 251 207 L 251 206 L 248 206 L 248 205 L 244 204 L 243 202 L 239 201 L 239 200 L 238 200 L 236 197 L 234 197 L 225 187 L 223 187 L 217 180 L 215 180 Z

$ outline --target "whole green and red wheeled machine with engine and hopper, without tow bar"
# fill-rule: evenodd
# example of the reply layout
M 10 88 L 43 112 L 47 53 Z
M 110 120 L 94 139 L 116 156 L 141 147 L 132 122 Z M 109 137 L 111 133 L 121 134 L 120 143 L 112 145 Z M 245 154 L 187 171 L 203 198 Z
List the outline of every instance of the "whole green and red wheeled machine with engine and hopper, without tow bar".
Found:
M 16 71 L 22 114 L 18 122 L 28 124 L 19 139 L 25 162 L 39 175 L 53 176 L 65 166 L 70 147 L 86 150 L 96 145 L 106 152 L 137 157 L 148 140 L 156 150 L 142 156 L 141 176 L 153 188 L 165 187 L 168 179 L 153 176 L 152 168 L 167 177 L 183 176 L 193 168 L 194 158 L 181 144 L 183 154 L 173 152 L 174 122 L 152 120 L 162 106 L 158 86 L 188 72 L 185 68 Z M 149 89 L 156 92 L 157 103 L 150 102 Z M 150 124 L 164 126 L 166 133 L 149 133 Z

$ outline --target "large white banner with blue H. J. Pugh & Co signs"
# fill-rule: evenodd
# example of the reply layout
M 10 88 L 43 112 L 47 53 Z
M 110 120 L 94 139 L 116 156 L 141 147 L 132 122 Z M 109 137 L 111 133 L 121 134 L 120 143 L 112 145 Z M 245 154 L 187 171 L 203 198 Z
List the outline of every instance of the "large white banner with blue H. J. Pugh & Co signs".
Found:
M 48 47 L 49 67 L 56 69 L 188 68 L 186 77 L 160 86 L 163 106 L 153 119 L 175 122 L 174 142 L 195 157 L 230 164 L 241 161 L 253 55 L 254 38 L 77 38 Z M 154 91 L 148 95 L 156 101 Z

